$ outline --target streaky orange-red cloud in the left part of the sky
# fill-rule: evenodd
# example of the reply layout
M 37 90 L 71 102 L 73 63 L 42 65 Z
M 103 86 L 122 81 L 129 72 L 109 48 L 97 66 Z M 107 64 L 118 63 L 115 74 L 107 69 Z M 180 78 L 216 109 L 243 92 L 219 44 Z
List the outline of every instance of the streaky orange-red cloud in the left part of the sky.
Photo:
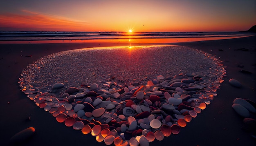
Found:
M 48 31 L 86 31 L 90 23 L 63 18 L 54 15 L 45 15 L 32 11 L 22 10 L 24 14 L 8 13 L 0 15 L 0 27 L 13 29 L 32 29 Z

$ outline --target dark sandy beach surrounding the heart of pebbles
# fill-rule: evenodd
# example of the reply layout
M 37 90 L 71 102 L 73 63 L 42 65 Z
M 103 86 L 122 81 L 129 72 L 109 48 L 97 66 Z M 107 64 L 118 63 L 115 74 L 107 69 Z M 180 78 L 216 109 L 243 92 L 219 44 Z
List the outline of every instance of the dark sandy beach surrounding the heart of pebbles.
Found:
M 256 36 L 229 40 L 178 43 L 216 55 L 227 66 L 227 77 L 212 100 L 198 117 L 181 129 L 178 135 L 155 140 L 150 146 L 254 146 L 256 139 L 243 131 L 243 118 L 233 110 L 235 98 L 247 98 L 256 102 Z M 20 91 L 18 78 L 22 69 L 43 56 L 71 49 L 117 44 L 0 44 L 0 145 L 8 145 L 17 132 L 34 127 L 36 133 L 24 146 L 105 146 L 95 137 L 66 127 L 39 108 Z M 128 45 L 128 44 L 118 44 Z M 32 55 L 32 57 L 26 57 Z M 238 67 L 243 65 L 244 67 Z M 250 71 L 245 74 L 240 70 Z M 229 84 L 234 78 L 242 84 L 235 88 Z M 31 117 L 31 120 L 28 120 Z M 251 114 L 256 119 L 256 115 Z

